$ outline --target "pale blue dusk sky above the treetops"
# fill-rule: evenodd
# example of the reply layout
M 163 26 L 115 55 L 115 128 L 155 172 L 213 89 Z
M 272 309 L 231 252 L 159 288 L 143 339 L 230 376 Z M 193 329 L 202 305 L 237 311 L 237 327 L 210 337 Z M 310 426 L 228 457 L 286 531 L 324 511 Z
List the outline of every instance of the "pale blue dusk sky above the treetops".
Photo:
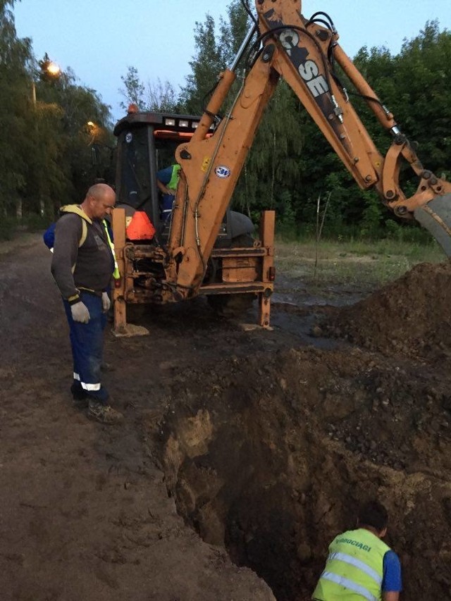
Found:
M 226 16 L 222 0 L 22 0 L 14 7 L 19 37 L 32 38 L 37 58 L 45 52 L 64 70 L 72 68 L 80 84 L 95 89 L 111 106 L 113 118 L 123 116 L 118 92 L 121 75 L 135 66 L 141 80 L 168 80 L 178 92 L 190 73 L 195 52 L 195 22 L 206 13 Z M 250 6 L 254 8 L 251 0 Z M 393 54 L 426 21 L 437 19 L 451 30 L 450 0 L 345 1 L 305 0 L 304 16 L 330 15 L 349 56 L 362 46 L 385 46 Z

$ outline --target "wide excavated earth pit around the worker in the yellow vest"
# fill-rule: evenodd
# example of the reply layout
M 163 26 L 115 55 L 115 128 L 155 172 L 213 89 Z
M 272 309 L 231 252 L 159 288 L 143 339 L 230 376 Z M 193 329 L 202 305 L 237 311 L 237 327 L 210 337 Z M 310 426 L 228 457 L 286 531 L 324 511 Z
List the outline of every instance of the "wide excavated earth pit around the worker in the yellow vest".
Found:
M 306 347 L 193 371 L 183 392 L 175 383 L 159 429 L 178 513 L 278 601 L 294 601 L 311 595 L 331 538 L 377 497 L 403 599 L 451 598 L 450 355 L 438 363 L 439 351 L 431 366 L 426 356 Z

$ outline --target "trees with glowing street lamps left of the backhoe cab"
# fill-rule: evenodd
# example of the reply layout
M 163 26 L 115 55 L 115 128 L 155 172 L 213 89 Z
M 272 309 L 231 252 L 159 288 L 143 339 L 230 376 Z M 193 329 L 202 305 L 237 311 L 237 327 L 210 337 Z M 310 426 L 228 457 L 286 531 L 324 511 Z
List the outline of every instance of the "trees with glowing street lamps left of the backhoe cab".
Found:
M 97 92 L 71 70 L 50 75 L 49 57 L 38 60 L 31 40 L 18 38 L 15 1 L 0 0 L 1 237 L 80 202 L 113 144 L 109 107 Z

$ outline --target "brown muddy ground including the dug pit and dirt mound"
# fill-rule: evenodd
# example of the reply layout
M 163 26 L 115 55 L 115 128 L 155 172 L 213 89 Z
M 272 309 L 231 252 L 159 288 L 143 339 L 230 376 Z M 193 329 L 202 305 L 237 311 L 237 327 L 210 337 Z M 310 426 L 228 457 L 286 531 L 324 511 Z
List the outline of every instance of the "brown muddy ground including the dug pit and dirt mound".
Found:
M 307 600 L 371 497 L 402 599 L 451 599 L 449 264 L 352 305 L 285 279 L 272 331 L 141 315 L 106 334 L 109 427 L 73 407 L 49 261 L 38 236 L 0 256 L 2 600 Z

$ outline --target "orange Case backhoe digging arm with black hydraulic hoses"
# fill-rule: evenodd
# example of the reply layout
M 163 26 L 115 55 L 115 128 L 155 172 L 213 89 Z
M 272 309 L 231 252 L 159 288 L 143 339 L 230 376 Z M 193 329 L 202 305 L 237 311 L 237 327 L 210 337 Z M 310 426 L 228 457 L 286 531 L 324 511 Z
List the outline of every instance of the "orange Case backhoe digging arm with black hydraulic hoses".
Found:
M 451 255 L 451 184 L 421 165 L 412 145 L 350 58 L 333 25 L 316 13 L 302 16 L 300 0 L 257 0 L 257 22 L 235 61 L 221 73 L 192 140 L 176 152 L 181 177 L 168 240 L 166 276 L 181 297 L 195 294 L 204 278 L 226 208 L 254 140 L 266 104 L 280 78 L 293 89 L 362 189 L 376 188 L 401 218 L 416 218 Z M 228 114 L 214 135 L 211 125 L 235 81 L 235 70 L 258 35 L 259 49 Z M 338 63 L 393 137 L 385 156 L 376 148 L 334 73 Z M 407 198 L 400 187 L 402 161 L 419 179 Z

